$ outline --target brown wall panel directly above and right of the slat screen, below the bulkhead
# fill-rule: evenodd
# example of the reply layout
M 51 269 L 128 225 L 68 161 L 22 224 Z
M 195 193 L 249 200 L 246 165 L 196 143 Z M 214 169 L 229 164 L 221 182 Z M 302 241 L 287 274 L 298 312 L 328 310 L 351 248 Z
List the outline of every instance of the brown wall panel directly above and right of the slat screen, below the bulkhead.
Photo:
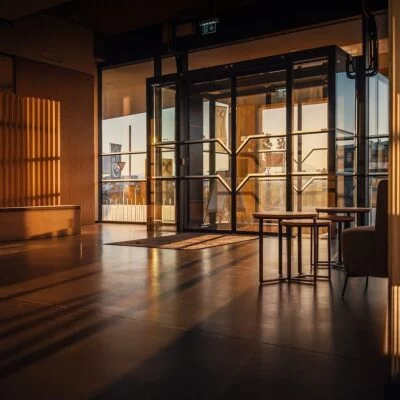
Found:
M 61 204 L 81 206 L 82 223 L 95 221 L 94 77 L 16 58 L 19 96 L 61 103 Z

